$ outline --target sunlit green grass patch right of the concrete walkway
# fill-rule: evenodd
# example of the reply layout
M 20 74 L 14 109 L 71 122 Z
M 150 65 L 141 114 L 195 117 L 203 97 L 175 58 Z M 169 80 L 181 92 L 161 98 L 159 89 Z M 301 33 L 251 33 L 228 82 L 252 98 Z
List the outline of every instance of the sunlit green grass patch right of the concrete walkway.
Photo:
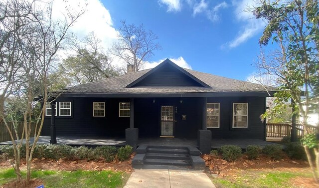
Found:
M 258 170 L 238 171 L 237 175 L 238 177 L 214 178 L 212 181 L 217 188 L 291 188 L 292 178 L 312 177 L 310 173 Z

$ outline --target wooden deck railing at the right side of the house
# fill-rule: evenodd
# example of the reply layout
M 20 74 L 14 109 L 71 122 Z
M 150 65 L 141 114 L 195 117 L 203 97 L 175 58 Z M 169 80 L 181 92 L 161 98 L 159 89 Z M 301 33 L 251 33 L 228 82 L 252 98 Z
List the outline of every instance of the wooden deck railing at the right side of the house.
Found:
M 291 134 L 292 124 L 287 123 L 267 123 L 267 137 L 269 138 L 283 138 L 289 137 Z M 318 133 L 319 128 L 316 126 L 309 126 L 309 128 L 314 132 Z M 304 126 L 297 124 L 297 136 L 304 135 Z

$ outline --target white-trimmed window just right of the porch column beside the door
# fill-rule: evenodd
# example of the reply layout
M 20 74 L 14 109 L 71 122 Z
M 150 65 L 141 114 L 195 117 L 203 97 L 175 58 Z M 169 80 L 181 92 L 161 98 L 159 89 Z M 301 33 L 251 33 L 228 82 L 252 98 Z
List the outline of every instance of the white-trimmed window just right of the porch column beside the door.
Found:
M 207 128 L 219 128 L 219 103 L 207 103 Z

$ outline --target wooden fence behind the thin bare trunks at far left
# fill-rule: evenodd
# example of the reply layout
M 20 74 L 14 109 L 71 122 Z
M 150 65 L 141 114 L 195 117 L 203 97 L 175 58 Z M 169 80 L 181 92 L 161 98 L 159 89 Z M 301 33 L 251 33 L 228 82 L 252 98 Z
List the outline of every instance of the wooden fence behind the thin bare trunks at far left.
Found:
M 13 124 L 12 123 L 8 123 L 8 127 L 10 128 L 10 131 L 12 132 L 12 135 L 14 137 L 14 140 L 16 139 L 15 137 L 15 133 L 13 131 Z M 31 124 L 31 137 L 34 136 L 34 133 L 35 133 L 35 123 L 32 123 Z M 21 138 L 21 135 L 22 135 L 22 131 L 23 131 L 23 122 L 18 122 L 17 124 L 17 132 L 18 132 L 18 136 L 19 138 Z M 9 132 L 8 130 L 6 129 L 4 123 L 0 123 L 0 142 L 6 142 L 6 141 L 10 141 L 11 138 L 10 138 L 10 135 L 9 135 Z

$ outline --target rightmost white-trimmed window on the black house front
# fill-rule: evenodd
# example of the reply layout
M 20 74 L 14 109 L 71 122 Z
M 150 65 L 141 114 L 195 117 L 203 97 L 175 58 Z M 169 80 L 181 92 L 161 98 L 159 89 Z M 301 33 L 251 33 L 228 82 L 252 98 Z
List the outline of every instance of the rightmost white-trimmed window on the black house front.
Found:
M 248 103 L 233 103 L 233 128 L 248 127 Z

